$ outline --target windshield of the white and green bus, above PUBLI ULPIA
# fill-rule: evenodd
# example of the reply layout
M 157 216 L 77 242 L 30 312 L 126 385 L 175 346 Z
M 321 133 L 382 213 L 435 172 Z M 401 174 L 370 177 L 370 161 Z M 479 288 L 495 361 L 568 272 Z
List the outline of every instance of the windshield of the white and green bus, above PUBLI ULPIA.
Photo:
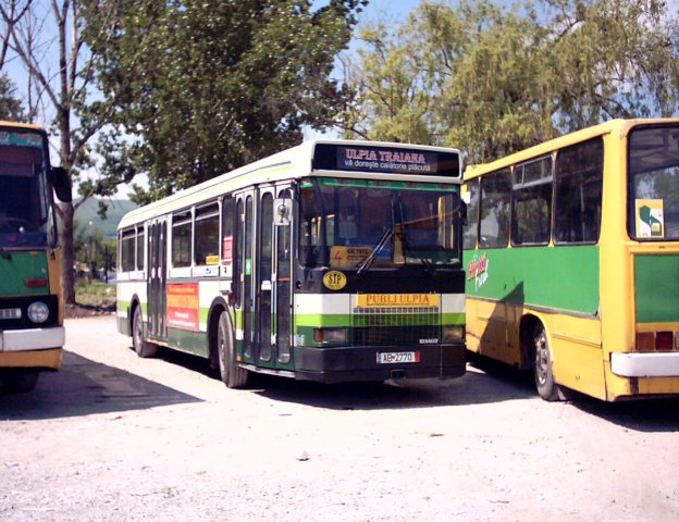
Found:
M 307 178 L 299 200 L 307 268 L 460 265 L 456 185 Z

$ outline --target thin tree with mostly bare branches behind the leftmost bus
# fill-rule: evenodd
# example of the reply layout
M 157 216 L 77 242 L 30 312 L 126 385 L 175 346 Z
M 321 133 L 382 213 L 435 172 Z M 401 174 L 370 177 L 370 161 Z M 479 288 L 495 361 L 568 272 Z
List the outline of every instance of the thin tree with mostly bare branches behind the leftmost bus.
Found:
M 8 0 L 0 3 L 9 50 L 23 62 L 28 78 L 27 120 L 52 122 L 61 165 L 74 184 L 92 166 L 88 142 L 107 122 L 108 104 L 91 98 L 92 60 L 83 39 L 77 0 Z M 57 62 L 53 58 L 57 58 Z M 81 184 L 82 204 L 92 195 Z M 63 246 L 64 298 L 75 302 L 73 216 L 76 203 L 58 207 Z

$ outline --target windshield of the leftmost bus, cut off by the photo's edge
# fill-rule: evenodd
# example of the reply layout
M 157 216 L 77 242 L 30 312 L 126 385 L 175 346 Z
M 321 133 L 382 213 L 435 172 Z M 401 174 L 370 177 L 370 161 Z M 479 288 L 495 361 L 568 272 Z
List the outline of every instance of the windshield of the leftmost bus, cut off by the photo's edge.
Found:
M 44 247 L 53 235 L 44 150 L 40 134 L 0 130 L 0 248 Z

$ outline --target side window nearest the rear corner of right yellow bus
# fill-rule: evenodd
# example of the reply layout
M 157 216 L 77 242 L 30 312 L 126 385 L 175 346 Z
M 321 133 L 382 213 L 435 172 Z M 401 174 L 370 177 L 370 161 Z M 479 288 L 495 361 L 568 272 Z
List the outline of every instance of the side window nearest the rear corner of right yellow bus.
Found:
M 558 151 L 554 243 L 596 243 L 601 227 L 604 142 L 601 137 Z

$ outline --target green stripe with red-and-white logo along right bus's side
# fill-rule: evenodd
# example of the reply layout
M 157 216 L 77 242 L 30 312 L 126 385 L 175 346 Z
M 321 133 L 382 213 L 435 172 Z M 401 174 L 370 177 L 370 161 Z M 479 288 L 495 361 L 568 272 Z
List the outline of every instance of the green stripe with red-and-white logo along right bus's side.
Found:
M 466 250 L 467 295 L 594 315 L 598 247 Z

